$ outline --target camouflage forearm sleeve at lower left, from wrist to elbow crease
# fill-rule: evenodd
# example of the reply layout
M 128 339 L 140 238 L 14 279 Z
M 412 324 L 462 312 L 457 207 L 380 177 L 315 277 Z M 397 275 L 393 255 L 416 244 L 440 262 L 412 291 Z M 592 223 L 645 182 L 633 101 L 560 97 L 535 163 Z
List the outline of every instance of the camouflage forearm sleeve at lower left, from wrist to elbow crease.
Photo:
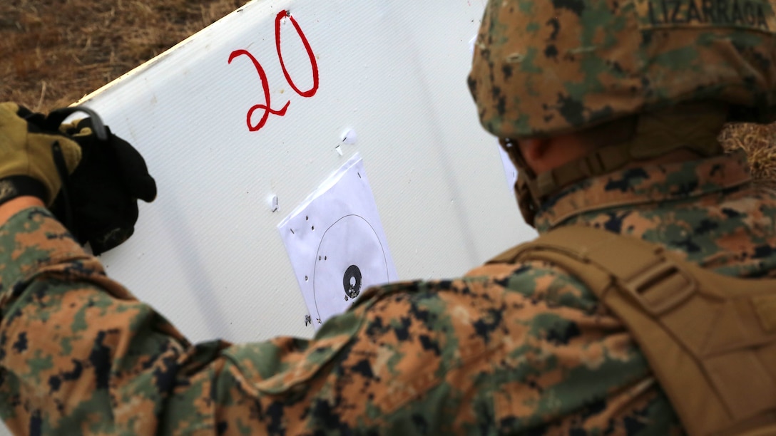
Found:
M 15 433 L 151 434 L 188 346 L 46 209 L 0 228 L 0 412 Z

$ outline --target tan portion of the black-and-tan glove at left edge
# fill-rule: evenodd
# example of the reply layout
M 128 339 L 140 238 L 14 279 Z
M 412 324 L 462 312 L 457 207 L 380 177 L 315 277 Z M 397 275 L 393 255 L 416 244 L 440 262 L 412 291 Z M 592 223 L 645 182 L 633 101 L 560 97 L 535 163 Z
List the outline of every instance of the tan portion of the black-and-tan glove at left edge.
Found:
M 18 196 L 36 196 L 50 206 L 60 191 L 61 175 L 54 149 L 71 173 L 81 161 L 81 147 L 63 134 L 28 123 L 28 109 L 0 103 L 0 203 Z

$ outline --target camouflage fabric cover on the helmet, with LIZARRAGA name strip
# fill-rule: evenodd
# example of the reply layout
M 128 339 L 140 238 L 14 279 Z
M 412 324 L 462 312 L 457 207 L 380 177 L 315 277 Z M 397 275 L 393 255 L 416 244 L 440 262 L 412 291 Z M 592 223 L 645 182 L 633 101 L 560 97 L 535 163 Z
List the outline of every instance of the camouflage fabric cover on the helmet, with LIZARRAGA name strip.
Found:
M 498 137 L 567 133 L 677 102 L 776 113 L 769 0 L 489 0 L 469 88 Z

